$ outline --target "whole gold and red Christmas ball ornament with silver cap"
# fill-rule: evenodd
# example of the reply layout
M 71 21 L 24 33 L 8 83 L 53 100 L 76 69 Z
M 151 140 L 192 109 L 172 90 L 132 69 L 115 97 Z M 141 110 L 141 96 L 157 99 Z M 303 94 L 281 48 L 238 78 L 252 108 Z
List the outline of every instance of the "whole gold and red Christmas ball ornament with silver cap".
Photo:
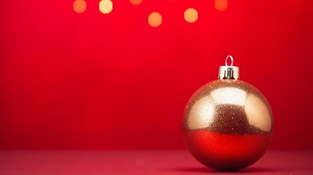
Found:
M 188 150 L 200 163 L 217 170 L 253 164 L 273 135 L 268 101 L 254 86 L 239 80 L 239 67 L 232 64 L 228 55 L 218 79 L 195 91 L 184 110 L 183 138 Z

